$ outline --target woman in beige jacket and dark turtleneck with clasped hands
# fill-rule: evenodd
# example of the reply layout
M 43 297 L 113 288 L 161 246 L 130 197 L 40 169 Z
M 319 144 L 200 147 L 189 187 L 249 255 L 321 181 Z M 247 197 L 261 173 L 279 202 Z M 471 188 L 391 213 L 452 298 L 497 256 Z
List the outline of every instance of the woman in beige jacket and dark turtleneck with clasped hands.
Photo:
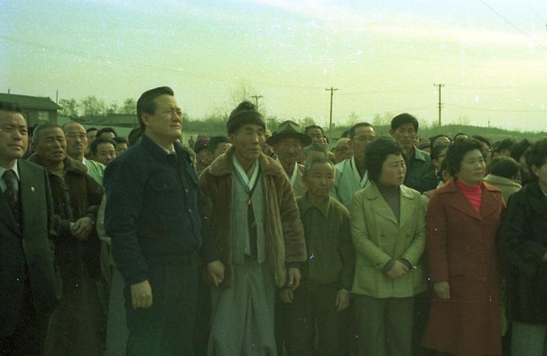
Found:
M 351 201 L 356 249 L 358 355 L 412 355 L 413 296 L 425 291 L 425 203 L 403 185 L 404 149 L 379 138 L 365 153 L 369 179 Z

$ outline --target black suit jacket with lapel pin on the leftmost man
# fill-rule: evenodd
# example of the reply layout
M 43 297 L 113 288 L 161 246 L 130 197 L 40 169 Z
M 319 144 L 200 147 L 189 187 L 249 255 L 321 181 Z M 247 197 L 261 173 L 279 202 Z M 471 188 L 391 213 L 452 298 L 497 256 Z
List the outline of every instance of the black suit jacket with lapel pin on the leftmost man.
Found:
M 61 275 L 51 238 L 54 212 L 45 168 L 18 160 L 22 229 L 0 192 L 0 339 L 15 332 L 26 286 L 39 313 L 51 312 L 61 299 Z

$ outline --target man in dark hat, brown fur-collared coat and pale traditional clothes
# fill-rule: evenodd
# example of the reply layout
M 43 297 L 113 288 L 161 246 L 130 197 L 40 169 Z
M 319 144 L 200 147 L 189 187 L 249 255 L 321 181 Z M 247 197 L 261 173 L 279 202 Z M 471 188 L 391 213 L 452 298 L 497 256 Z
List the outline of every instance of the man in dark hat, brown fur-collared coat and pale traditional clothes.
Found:
M 225 266 L 224 280 L 211 293 L 208 353 L 276 356 L 276 286 L 294 290 L 300 284 L 303 227 L 287 175 L 262 153 L 264 116 L 241 102 L 226 126 L 233 146 L 200 176 Z

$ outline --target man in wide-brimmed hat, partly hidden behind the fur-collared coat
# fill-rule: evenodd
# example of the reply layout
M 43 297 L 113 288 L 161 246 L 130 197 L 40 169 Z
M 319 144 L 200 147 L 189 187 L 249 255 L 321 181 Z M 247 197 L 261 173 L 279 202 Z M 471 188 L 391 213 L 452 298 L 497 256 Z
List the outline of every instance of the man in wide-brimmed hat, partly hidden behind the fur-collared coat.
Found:
M 301 159 L 303 147 L 311 145 L 312 138 L 300 132 L 299 124 L 287 120 L 279 125 L 278 131 L 266 143 L 274 148 L 278 163 L 290 179 L 294 195 L 298 197 L 306 193 L 307 189 L 302 181 L 304 166 L 298 161 Z

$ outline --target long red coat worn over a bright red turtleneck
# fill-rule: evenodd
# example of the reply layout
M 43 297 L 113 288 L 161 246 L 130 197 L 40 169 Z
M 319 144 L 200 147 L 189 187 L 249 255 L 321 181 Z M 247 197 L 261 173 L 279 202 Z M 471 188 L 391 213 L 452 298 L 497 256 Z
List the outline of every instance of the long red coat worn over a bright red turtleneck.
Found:
M 431 282 L 449 282 L 450 299 L 434 296 L 425 347 L 457 356 L 501 355 L 496 236 L 503 209 L 500 190 L 484 183 L 480 213 L 453 180 L 431 196 L 429 277 Z

